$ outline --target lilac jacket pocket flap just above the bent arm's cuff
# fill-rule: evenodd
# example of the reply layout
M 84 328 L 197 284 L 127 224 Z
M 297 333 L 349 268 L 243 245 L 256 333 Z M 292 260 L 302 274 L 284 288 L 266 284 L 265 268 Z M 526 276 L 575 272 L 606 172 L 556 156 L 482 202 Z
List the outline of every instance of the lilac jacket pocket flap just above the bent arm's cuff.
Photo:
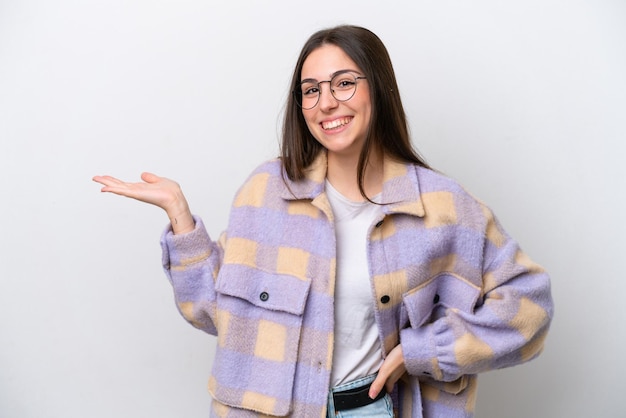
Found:
M 434 322 L 448 309 L 473 313 L 481 289 L 463 277 L 440 273 L 403 296 L 403 310 L 412 328 Z

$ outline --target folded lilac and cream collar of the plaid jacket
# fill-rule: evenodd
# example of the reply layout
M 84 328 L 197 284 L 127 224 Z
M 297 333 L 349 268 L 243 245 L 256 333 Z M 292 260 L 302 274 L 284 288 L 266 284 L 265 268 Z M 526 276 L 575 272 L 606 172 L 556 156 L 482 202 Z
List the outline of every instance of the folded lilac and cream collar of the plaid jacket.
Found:
M 328 161 L 326 152 L 320 152 L 307 169 L 305 179 L 291 181 L 285 176 L 285 187 L 281 197 L 286 200 L 322 200 L 325 198 L 325 179 Z M 424 205 L 420 196 L 419 167 L 385 158 L 383 162 L 383 212 L 404 213 L 424 216 Z M 324 205 L 326 206 L 326 205 Z

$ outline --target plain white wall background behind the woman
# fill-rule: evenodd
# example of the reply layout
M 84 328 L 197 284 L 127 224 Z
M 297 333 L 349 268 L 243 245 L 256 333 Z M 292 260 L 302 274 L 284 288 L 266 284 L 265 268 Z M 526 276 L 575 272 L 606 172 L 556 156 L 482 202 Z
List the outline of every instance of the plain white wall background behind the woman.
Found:
M 416 146 L 552 275 L 543 355 L 484 374 L 477 416 L 626 416 L 622 0 L 0 0 L 0 416 L 208 416 L 167 219 L 91 178 L 174 178 L 216 236 L 338 23 L 381 37 Z

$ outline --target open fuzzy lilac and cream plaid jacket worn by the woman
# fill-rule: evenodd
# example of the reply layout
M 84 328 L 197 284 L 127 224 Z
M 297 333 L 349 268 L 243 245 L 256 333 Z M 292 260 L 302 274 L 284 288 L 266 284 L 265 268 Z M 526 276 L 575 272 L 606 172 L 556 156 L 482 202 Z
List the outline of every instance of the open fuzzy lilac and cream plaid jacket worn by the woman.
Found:
M 279 160 L 234 199 L 227 230 L 162 237 L 177 306 L 217 335 L 216 417 L 324 417 L 333 353 L 335 232 L 322 153 L 304 181 Z M 367 254 L 383 354 L 402 344 L 401 417 L 471 417 L 476 374 L 530 360 L 552 317 L 550 283 L 491 211 L 435 171 L 384 164 Z

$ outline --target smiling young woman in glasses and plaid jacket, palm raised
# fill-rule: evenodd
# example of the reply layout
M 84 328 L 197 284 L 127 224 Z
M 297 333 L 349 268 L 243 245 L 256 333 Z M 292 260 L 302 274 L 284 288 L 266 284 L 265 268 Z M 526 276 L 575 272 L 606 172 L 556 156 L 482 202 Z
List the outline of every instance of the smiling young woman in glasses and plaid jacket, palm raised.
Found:
M 388 53 L 322 30 L 293 73 L 281 157 L 212 240 L 177 183 L 94 177 L 165 210 L 182 315 L 217 335 L 217 417 L 469 417 L 476 374 L 537 356 L 546 273 L 411 147 Z

